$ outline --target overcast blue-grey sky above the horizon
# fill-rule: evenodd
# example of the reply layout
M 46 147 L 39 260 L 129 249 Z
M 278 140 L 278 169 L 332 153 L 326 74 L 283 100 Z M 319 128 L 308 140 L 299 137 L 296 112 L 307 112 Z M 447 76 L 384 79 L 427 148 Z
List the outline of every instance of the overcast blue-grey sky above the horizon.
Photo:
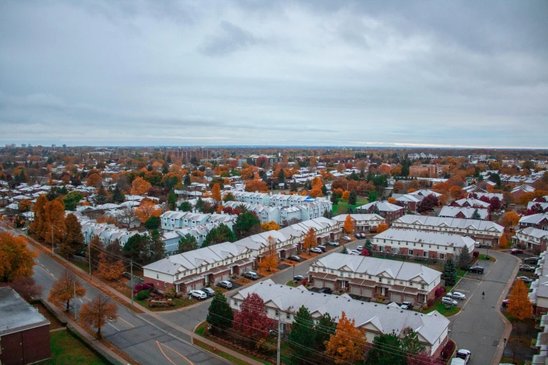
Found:
M 548 147 L 548 1 L 0 1 L 0 145 Z

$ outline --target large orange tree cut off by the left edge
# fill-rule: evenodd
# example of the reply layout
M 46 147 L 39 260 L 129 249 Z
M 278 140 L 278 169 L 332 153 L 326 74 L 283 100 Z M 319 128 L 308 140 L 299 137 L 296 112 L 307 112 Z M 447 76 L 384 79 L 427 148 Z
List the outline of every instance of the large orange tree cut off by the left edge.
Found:
M 38 252 L 27 247 L 23 237 L 0 231 L 0 282 L 34 274 L 34 259 Z

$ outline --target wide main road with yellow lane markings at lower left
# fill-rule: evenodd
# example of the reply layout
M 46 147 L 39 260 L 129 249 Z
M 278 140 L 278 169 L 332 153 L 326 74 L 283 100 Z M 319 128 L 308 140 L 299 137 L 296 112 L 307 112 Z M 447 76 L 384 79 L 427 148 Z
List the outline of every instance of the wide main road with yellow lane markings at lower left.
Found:
M 0 229 L 3 228 L 0 227 Z M 16 231 L 12 233 L 15 234 Z M 31 245 L 29 248 L 36 250 Z M 41 251 L 36 251 L 39 256 L 34 266 L 33 278 L 43 287 L 42 296 L 47 299 L 53 283 L 63 273 L 64 267 Z M 78 310 L 83 303 L 99 295 L 99 290 L 87 282 L 82 282 L 82 285 L 86 289 L 86 294 L 83 298 L 76 300 Z M 71 301 L 72 305 L 73 301 Z M 106 340 L 143 365 L 228 364 L 192 345 L 188 336 L 160 324 L 162 323 L 153 321 L 148 315 L 136 315 L 124 306 L 118 305 L 118 320 L 108 322 L 101 332 Z M 165 331 L 169 331 L 170 334 L 166 334 Z

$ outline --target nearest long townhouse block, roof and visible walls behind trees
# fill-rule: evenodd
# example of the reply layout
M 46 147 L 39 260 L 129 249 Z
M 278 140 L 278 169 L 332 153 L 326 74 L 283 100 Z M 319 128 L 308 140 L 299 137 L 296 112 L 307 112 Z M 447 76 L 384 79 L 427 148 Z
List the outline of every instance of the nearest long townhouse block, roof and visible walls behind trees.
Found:
M 337 321 L 346 313 L 349 320 L 354 320 L 356 326 L 365 329 L 367 343 L 373 343 L 380 334 L 395 333 L 404 336 L 407 328 L 416 331 L 419 341 L 433 356 L 439 356 L 445 343 L 449 329 L 449 320 L 436 310 L 428 314 L 412 310 L 400 310 L 394 306 L 379 303 L 369 303 L 351 299 L 348 295 L 318 295 L 309 292 L 304 287 L 288 287 L 279 285 L 267 279 L 244 287 L 230 296 L 232 310 L 239 310 L 241 303 L 250 294 L 257 294 L 265 302 L 267 317 L 279 320 L 282 331 L 289 331 L 295 320 L 297 310 L 304 306 L 308 308 L 317 324 L 319 319 L 328 313 Z

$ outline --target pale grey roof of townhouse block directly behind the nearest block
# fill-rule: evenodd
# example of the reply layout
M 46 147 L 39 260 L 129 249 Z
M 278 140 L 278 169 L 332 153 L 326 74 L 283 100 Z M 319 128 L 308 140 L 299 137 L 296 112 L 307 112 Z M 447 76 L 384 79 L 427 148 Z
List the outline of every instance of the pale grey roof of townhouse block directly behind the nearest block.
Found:
M 365 257 L 360 255 L 344 255 L 342 253 L 332 253 L 321 257 L 318 261 L 311 264 L 325 269 L 352 271 L 353 273 L 364 273 L 377 276 L 381 273 L 395 280 L 409 281 L 420 277 L 427 284 L 440 278 L 440 271 L 430 269 L 428 266 L 413 264 L 411 262 L 401 262 L 395 260 L 379 259 L 376 257 Z

